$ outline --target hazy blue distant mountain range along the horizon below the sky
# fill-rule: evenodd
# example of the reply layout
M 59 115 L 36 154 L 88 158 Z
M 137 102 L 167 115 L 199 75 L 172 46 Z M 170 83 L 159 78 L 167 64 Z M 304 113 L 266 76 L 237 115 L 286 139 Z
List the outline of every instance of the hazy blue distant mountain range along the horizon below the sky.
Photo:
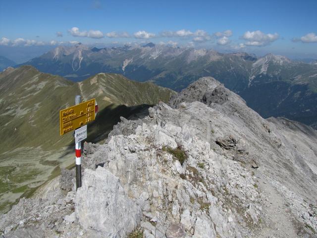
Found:
M 24 64 L 73 81 L 112 72 L 176 91 L 202 76 L 212 76 L 241 95 L 264 118 L 281 116 L 317 128 L 317 64 L 313 62 L 149 43 L 102 49 L 82 44 L 59 46 Z

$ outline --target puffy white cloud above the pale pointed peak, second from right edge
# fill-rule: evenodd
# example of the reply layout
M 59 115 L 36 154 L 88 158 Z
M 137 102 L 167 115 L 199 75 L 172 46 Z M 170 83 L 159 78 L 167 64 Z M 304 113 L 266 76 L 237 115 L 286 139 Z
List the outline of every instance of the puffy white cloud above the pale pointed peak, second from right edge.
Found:
M 266 46 L 278 39 L 278 34 L 264 34 L 262 31 L 247 31 L 242 38 L 246 41 L 247 46 Z

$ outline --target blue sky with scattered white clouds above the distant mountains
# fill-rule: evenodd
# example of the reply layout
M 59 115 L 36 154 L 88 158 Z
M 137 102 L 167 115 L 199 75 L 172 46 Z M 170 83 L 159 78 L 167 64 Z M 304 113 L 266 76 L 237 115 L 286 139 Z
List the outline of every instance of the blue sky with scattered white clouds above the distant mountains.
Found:
M 0 55 L 74 42 L 154 42 L 317 58 L 316 10 L 317 0 L 2 0 Z

